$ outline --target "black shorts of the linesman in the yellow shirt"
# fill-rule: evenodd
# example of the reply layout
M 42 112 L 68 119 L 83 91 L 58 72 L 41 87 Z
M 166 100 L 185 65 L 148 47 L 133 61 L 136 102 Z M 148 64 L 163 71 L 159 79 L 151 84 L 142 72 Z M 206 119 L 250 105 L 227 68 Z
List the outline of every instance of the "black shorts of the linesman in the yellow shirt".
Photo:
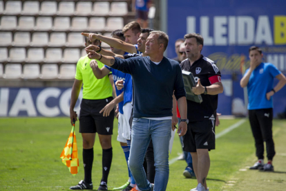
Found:
M 106 104 L 113 100 L 112 97 L 102 100 L 82 99 L 79 113 L 79 133 L 97 133 L 100 135 L 113 134 L 114 109 L 108 117 L 99 113 Z

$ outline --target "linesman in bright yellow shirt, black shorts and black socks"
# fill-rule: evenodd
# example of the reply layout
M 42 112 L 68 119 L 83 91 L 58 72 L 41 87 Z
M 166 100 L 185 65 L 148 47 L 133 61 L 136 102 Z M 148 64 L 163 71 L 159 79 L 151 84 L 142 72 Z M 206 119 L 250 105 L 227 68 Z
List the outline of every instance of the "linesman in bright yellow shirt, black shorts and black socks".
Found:
M 86 46 L 94 44 L 99 46 L 99 40 L 90 41 L 86 38 Z M 102 80 L 97 80 L 90 67 L 91 59 L 88 56 L 81 57 L 77 62 L 77 71 L 75 73 L 75 82 L 70 100 L 70 122 L 77 120 L 77 113 L 73 111 L 79 91 L 83 86 L 83 98 L 79 114 L 79 132 L 83 139 L 83 161 L 84 161 L 84 180 L 79 181 L 78 185 L 70 187 L 71 190 L 92 190 L 93 183 L 91 172 L 93 167 L 93 145 L 95 143 L 95 134 L 98 134 L 99 142 L 102 146 L 102 180 L 98 190 L 107 190 L 107 179 L 111 168 L 113 157 L 111 136 L 113 134 L 114 109 L 108 116 L 100 113 L 106 104 L 110 103 L 113 88 L 111 76 L 106 76 Z M 99 68 L 104 67 L 102 62 L 97 61 Z M 111 73 L 110 73 L 111 74 Z

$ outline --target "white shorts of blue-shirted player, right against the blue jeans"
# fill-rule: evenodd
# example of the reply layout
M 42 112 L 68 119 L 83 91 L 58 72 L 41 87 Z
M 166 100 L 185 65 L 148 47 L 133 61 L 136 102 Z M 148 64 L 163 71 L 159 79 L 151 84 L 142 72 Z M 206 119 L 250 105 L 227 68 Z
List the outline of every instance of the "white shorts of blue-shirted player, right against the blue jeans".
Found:
M 123 106 L 123 113 L 124 113 L 124 120 L 123 120 L 123 138 L 127 140 L 131 139 L 131 127 L 130 127 L 130 118 L 132 113 L 133 106 L 131 102 L 124 104 Z

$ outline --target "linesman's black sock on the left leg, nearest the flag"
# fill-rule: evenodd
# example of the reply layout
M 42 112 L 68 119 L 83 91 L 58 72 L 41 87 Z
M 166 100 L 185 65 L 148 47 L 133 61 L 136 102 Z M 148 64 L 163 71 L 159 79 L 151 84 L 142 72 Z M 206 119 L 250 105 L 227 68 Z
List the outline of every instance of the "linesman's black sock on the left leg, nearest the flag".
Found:
M 93 148 L 83 149 L 82 158 L 84 161 L 84 182 L 92 183 L 91 170 L 93 170 Z

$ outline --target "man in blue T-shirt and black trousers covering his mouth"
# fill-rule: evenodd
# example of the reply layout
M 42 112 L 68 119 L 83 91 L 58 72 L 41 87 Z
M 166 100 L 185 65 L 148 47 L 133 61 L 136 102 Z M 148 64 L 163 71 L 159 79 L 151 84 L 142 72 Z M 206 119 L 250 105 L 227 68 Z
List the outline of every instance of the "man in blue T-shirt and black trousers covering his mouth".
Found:
M 286 84 L 283 73 L 278 71 L 271 63 L 262 62 L 263 53 L 257 46 L 249 48 L 250 67 L 240 80 L 240 86 L 247 87 L 249 104 L 249 122 L 255 140 L 256 156 L 258 161 L 251 170 L 274 171 L 272 160 L 275 155 L 274 141 L 272 138 L 273 102 L 274 93 Z M 274 78 L 279 80 L 273 88 Z M 264 142 L 268 163 L 264 165 Z

